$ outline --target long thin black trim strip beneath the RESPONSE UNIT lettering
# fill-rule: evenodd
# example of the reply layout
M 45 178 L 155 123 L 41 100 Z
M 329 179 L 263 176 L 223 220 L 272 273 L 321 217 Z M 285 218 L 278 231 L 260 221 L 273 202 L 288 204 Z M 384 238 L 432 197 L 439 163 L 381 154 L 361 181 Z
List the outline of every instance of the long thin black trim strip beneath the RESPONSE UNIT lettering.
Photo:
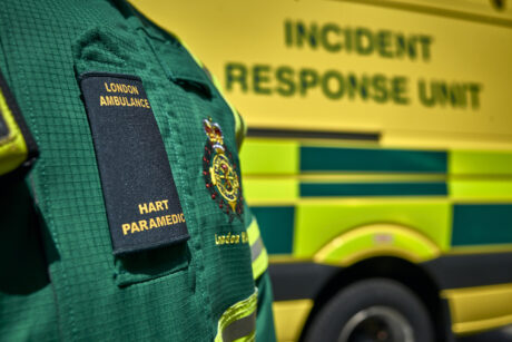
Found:
M 258 138 L 335 139 L 335 140 L 357 140 L 357 141 L 374 141 L 374 143 L 377 143 L 381 139 L 380 133 L 274 129 L 274 128 L 255 128 L 255 127 L 249 127 L 247 129 L 247 136 L 258 137 Z

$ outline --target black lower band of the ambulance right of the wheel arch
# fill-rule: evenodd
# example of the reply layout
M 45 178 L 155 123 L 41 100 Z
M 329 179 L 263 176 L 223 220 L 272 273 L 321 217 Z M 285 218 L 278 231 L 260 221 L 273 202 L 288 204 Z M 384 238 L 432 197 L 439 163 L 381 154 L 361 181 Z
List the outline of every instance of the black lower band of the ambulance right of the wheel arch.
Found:
M 512 253 L 446 255 L 422 265 L 441 290 L 512 283 Z

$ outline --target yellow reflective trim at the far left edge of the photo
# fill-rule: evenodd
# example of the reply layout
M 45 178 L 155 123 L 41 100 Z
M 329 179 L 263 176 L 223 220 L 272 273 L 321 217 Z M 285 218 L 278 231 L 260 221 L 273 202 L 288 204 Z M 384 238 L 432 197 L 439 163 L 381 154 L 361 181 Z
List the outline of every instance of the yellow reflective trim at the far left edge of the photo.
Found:
M 0 175 L 7 174 L 20 166 L 27 158 L 28 149 L 23 135 L 16 124 L 6 97 L 0 90 L 0 115 L 3 117 L 9 135 L 0 140 Z

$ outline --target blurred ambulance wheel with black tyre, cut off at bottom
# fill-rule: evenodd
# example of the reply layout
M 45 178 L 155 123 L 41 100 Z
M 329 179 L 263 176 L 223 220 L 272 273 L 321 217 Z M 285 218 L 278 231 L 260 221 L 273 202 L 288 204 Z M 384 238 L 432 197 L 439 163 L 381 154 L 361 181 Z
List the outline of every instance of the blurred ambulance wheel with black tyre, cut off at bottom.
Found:
M 420 299 L 395 281 L 371 279 L 339 291 L 315 315 L 306 342 L 432 342 Z

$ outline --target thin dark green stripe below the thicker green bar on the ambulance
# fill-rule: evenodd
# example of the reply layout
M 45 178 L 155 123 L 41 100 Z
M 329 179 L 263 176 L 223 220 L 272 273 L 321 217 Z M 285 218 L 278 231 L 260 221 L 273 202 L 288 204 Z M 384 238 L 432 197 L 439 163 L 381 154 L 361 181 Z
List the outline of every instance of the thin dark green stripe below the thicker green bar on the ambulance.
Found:
M 442 196 L 446 183 L 302 183 L 301 196 Z

